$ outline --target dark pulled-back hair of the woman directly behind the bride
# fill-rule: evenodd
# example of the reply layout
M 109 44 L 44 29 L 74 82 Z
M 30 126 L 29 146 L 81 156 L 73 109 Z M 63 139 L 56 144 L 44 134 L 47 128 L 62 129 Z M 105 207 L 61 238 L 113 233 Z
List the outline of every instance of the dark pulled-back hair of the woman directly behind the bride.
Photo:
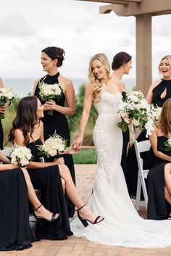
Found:
M 132 59 L 132 56 L 128 54 L 125 51 L 120 51 L 118 54 L 116 54 L 112 61 L 112 70 L 117 70 L 119 67 L 121 67 L 124 63 L 130 62 Z

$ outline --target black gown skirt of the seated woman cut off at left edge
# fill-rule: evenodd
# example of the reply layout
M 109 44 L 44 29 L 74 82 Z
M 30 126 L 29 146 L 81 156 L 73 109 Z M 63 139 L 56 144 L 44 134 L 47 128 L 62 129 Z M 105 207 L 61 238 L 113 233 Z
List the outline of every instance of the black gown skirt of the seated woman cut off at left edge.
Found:
M 28 188 L 20 168 L 0 172 L 0 251 L 28 249 Z

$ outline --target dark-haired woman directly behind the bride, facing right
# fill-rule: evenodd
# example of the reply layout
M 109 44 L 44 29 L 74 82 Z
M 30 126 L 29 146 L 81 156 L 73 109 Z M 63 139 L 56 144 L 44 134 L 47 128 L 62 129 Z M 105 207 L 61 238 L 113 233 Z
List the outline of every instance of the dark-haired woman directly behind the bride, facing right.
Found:
M 122 76 L 128 75 L 132 68 L 132 57 L 125 51 L 118 52 L 112 61 L 112 70 L 111 75 L 112 82 L 115 86 L 119 88 L 119 91 L 122 91 L 122 96 L 125 96 L 125 84 L 122 82 Z M 123 136 L 123 146 L 122 146 L 122 159 L 121 166 L 125 175 L 125 180 L 127 180 L 127 156 L 130 146 L 130 132 L 122 132 Z

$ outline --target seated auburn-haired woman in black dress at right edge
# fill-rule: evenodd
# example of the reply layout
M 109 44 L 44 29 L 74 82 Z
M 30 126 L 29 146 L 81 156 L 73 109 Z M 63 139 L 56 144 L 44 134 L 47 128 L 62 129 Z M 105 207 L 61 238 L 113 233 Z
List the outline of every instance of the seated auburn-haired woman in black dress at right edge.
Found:
M 163 220 L 168 218 L 171 209 L 171 150 L 165 151 L 164 141 L 171 133 L 171 99 L 167 99 L 162 107 L 159 125 L 149 136 L 151 147 L 156 156 L 156 164 L 147 177 L 148 209 L 147 218 Z

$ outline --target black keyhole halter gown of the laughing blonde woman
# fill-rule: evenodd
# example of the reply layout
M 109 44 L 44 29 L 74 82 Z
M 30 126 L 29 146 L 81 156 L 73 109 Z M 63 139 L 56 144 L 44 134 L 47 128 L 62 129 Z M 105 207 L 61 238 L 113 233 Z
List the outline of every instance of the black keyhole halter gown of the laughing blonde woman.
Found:
M 166 96 L 162 99 L 161 95 L 165 89 L 167 90 L 167 93 L 166 93 Z M 157 105 L 158 107 L 162 107 L 164 102 L 170 98 L 171 98 L 171 80 L 162 79 L 159 85 L 153 89 L 152 103 L 154 105 Z M 148 138 L 146 138 L 146 131 L 142 131 L 138 136 L 137 141 L 138 142 L 145 141 L 147 139 Z M 146 154 L 148 153 L 141 154 L 141 157 L 144 159 L 146 157 Z M 154 163 L 154 159 L 151 159 L 151 161 Z M 136 155 L 135 155 L 135 147 L 134 147 L 134 144 L 132 144 L 130 146 L 130 150 L 128 154 L 128 171 L 127 171 L 127 186 L 128 186 L 130 197 L 136 196 L 137 180 L 138 180 L 138 164 L 137 164 Z

